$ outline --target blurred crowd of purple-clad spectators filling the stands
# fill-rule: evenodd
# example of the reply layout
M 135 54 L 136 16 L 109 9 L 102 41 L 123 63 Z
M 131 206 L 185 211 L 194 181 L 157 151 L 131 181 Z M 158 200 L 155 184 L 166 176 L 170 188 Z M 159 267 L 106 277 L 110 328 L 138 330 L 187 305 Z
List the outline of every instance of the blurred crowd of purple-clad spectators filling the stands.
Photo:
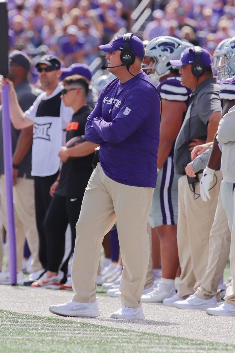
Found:
M 69 66 L 91 62 L 98 45 L 123 29 L 132 32 L 131 16 L 140 0 L 8 0 L 10 49 L 31 57 L 57 55 Z M 137 36 L 151 40 L 169 35 L 200 45 L 213 54 L 217 44 L 235 35 L 233 0 L 146 1 L 151 13 Z M 143 8 L 144 10 L 144 8 Z M 141 17 L 141 14 L 140 14 Z M 134 18 L 134 19 L 133 19 Z

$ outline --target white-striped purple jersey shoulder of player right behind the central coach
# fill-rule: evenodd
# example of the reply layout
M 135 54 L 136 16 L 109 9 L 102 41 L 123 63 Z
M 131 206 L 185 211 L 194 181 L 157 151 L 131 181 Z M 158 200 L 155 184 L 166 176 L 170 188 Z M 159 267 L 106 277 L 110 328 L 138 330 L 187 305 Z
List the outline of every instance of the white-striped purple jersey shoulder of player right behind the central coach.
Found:
M 161 98 L 167 101 L 185 102 L 191 90 L 181 85 L 181 77 L 168 77 L 157 85 Z

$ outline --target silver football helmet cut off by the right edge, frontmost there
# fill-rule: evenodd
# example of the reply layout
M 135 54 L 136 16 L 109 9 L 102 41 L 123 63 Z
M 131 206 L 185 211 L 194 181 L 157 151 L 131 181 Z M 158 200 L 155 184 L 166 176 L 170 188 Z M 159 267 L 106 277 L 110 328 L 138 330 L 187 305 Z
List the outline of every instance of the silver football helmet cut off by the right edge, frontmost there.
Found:
M 226 80 L 235 74 L 235 37 L 228 39 L 222 52 L 219 54 L 219 63 L 216 67 L 218 78 Z

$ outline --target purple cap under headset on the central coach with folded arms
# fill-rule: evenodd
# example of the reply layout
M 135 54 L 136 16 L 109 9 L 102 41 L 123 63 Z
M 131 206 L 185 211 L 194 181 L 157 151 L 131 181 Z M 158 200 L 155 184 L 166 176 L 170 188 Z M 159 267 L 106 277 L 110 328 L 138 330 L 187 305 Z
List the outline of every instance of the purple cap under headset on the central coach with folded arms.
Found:
M 123 36 L 116 36 L 109 44 L 100 45 L 99 48 L 105 53 L 114 52 L 115 50 L 123 49 Z M 142 40 L 136 36 L 132 36 L 129 42 L 130 48 L 134 51 L 136 56 L 144 57 L 144 44 Z

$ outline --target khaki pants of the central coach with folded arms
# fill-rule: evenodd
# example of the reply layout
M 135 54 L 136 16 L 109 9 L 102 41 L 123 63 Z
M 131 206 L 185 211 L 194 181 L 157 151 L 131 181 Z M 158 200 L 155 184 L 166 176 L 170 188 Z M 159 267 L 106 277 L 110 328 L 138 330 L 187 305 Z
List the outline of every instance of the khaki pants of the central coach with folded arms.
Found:
M 72 262 L 73 300 L 96 300 L 96 283 L 104 235 L 117 221 L 123 261 L 120 283 L 123 306 L 139 307 L 149 264 L 147 224 L 153 188 L 117 183 L 100 164 L 88 182 L 76 225 Z

